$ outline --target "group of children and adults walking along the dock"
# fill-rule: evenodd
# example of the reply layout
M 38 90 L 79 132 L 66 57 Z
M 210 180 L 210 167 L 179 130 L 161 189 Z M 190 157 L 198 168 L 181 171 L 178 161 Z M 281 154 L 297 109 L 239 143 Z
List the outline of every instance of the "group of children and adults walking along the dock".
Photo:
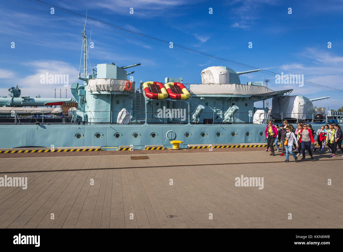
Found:
M 279 142 L 281 154 L 286 154 L 286 160 L 289 162 L 289 154 L 291 154 L 295 162 L 298 162 L 300 153 L 301 159 L 305 159 L 305 153 L 308 152 L 311 159 L 313 159 L 313 152 L 317 151 L 315 147 L 315 137 L 317 136 L 317 142 L 320 145 L 318 152 L 325 152 L 325 146 L 328 146 L 327 152 L 330 152 L 330 156 L 336 156 L 337 147 L 343 152 L 342 148 L 342 129 L 338 124 L 330 124 L 321 126 L 317 132 L 312 128 L 312 125 L 306 123 L 298 123 L 297 128 L 294 128 L 292 124 L 288 124 L 287 120 L 283 121 L 283 124 L 273 124 L 272 121 L 268 121 L 267 128 L 264 131 L 264 140 L 267 140 L 267 149 L 265 151 L 271 151 L 272 156 L 275 156 L 274 146 L 276 145 L 276 152 L 279 152 Z M 297 155 L 293 152 L 297 153 Z M 270 149 L 268 149 L 270 148 Z

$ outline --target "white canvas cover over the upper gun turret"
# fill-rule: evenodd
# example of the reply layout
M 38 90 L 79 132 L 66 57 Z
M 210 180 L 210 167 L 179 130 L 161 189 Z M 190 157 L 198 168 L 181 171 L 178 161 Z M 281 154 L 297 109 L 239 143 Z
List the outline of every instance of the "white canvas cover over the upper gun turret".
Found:
M 230 72 L 220 66 L 211 66 L 201 72 L 202 84 L 225 84 L 230 83 Z

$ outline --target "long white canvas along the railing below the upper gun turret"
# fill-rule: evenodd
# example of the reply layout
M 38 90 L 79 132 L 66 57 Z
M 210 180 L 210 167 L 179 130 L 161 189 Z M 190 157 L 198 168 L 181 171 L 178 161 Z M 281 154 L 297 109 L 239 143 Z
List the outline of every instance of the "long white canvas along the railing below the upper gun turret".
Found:
M 273 90 L 264 86 L 243 85 L 243 84 L 191 84 L 189 85 L 191 94 L 243 94 L 262 95 L 274 93 Z

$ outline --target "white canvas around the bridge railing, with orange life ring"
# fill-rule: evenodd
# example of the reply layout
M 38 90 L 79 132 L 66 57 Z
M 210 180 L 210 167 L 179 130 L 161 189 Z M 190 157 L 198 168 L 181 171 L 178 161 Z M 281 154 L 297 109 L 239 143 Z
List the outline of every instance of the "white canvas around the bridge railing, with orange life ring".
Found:
M 88 91 L 117 91 L 117 92 L 134 92 L 134 81 L 131 81 L 131 89 L 126 91 L 125 83 L 128 80 L 120 79 L 90 79 L 88 80 Z

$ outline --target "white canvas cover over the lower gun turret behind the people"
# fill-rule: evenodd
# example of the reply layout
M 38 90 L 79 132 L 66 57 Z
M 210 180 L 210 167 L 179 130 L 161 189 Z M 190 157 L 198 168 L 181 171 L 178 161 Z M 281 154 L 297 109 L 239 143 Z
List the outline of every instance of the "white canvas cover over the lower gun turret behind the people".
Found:
M 306 101 L 299 96 L 274 97 L 272 99 L 271 116 L 273 118 L 304 120 L 306 119 Z

